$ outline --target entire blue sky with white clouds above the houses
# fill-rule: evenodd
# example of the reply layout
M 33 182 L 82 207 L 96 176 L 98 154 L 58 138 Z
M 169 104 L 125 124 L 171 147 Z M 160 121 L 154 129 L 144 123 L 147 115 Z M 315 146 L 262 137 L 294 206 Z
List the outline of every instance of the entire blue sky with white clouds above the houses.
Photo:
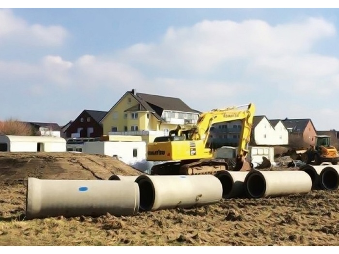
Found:
M 339 130 L 338 9 L 0 9 L 0 120 L 109 110 L 126 90 L 252 102 Z

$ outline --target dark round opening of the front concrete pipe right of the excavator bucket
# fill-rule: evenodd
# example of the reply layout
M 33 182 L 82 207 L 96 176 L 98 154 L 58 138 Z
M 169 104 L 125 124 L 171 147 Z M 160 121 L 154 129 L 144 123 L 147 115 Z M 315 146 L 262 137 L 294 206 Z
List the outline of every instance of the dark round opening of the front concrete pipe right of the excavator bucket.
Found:
M 262 174 L 253 172 L 248 173 L 246 180 L 247 193 L 253 198 L 260 198 L 265 194 L 266 181 Z

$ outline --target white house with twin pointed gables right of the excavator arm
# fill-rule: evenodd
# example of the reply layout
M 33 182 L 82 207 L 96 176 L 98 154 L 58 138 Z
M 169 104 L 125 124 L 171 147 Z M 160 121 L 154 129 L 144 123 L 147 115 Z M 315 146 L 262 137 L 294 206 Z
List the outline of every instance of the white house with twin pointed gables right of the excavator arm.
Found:
M 257 146 L 288 145 L 288 130 L 281 120 L 268 120 L 265 116 L 255 116 L 251 141 Z

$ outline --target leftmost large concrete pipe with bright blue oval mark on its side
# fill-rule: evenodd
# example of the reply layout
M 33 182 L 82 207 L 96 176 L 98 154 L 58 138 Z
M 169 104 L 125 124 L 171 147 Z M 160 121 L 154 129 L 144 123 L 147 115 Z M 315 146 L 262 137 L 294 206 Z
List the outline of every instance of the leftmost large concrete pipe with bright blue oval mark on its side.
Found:
M 131 181 L 29 178 L 26 218 L 135 215 L 139 187 Z

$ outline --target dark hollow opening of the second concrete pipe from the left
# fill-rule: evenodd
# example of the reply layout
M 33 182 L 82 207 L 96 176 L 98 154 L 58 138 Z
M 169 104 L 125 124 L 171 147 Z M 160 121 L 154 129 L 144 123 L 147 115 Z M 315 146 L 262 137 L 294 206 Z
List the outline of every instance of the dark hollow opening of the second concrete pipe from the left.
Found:
M 139 176 L 135 182 L 139 185 L 139 208 L 146 211 L 151 210 L 155 200 L 155 189 L 152 180 L 146 176 Z

